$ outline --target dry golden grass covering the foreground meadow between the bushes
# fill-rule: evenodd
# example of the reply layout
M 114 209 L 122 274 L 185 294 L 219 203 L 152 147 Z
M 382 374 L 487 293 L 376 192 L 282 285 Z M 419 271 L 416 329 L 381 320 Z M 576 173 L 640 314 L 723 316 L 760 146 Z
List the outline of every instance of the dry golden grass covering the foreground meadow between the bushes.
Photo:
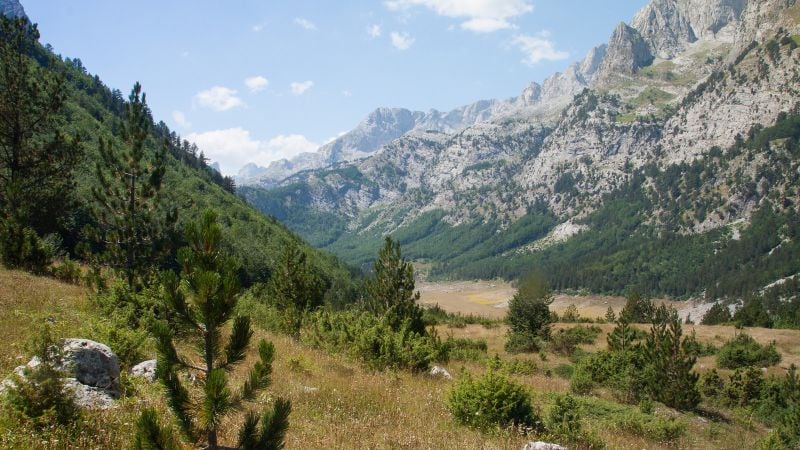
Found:
M 0 338 L 6 344 L 0 351 L 0 367 L 7 373 L 28 355 L 22 344 L 30 337 L 32 325 L 48 317 L 59 337 L 79 336 L 92 320 L 92 311 L 81 288 L 53 280 L 0 270 Z M 606 306 L 607 307 L 607 306 Z M 556 328 L 574 326 L 557 324 Z M 605 333 L 613 326 L 599 325 L 603 334 L 585 350 L 605 348 Z M 691 329 L 692 327 L 687 327 Z M 719 345 L 733 336 L 730 327 L 693 327 L 703 342 Z M 456 337 L 485 339 L 489 355 L 502 358 L 530 359 L 537 365 L 533 375 L 514 376 L 534 394 L 534 402 L 546 414 L 553 402 L 553 393 L 564 393 L 569 382 L 558 377 L 556 368 L 572 364 L 569 358 L 547 353 L 540 355 L 509 355 L 503 350 L 506 329 L 503 326 L 486 329 L 480 325 L 465 328 L 439 327 L 439 334 Z M 787 330 L 748 330 L 760 342 L 775 340 L 788 364 L 800 358 L 800 332 Z M 257 331 L 256 339 L 271 340 L 277 349 L 273 383 L 255 404 L 259 409 L 268 405 L 275 396 L 292 400 L 290 431 L 287 448 L 332 449 L 417 449 L 417 448 L 493 448 L 520 449 L 532 436 L 519 436 L 513 432 L 498 431 L 484 434 L 454 423 L 446 409 L 446 397 L 451 381 L 432 379 L 406 372 L 371 373 L 357 363 L 337 355 L 309 348 L 284 336 Z M 249 368 L 250 359 L 233 373 L 238 385 Z M 781 366 L 785 364 L 782 363 Z M 704 358 L 698 366 L 713 365 L 713 358 Z M 446 368 L 456 377 L 460 371 L 483 372 L 484 366 L 476 362 L 451 362 Z M 771 369 L 777 371 L 778 369 Z M 88 413 L 83 431 L 68 434 L 25 429 L 8 414 L 0 415 L 0 448 L 126 448 L 134 433 L 140 411 L 153 406 L 163 417 L 166 410 L 163 392 L 157 385 L 141 380 L 126 383 L 129 395 L 116 408 Z M 723 413 L 725 420 L 700 418 L 694 414 L 677 413 L 660 407 L 657 415 L 678 416 L 687 424 L 684 437 L 671 444 L 659 444 L 647 437 L 635 436 L 619 429 L 610 416 L 603 415 L 604 408 L 635 411 L 635 407 L 622 406 L 610 400 L 603 391 L 598 397 L 584 400 L 595 405 L 591 415 L 586 413 L 583 426 L 596 433 L 610 449 L 641 448 L 741 448 L 756 442 L 765 433 L 763 427 L 748 423 L 748 418 Z M 7 412 L 7 411 L 6 411 Z M 727 414 L 727 415 L 725 415 Z M 222 427 L 222 438 L 233 444 L 240 416 L 228 418 Z

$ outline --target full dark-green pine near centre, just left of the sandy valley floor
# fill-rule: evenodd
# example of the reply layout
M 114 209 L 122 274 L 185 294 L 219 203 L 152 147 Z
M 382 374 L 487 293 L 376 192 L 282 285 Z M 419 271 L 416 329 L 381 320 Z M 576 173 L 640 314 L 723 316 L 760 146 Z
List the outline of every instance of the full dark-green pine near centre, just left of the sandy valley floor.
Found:
M 303 316 L 322 306 L 325 288 L 306 261 L 306 254 L 290 241 L 267 285 L 270 299 L 284 312 L 285 331 L 298 337 Z

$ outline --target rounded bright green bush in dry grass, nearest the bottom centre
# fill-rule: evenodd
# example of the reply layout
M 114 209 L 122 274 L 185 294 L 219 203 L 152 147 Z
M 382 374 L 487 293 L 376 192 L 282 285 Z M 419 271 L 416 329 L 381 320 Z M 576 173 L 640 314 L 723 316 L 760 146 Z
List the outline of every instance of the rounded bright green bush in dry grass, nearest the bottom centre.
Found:
M 528 391 L 491 369 L 478 378 L 462 372 L 447 397 L 447 407 L 458 423 L 473 428 L 543 429 Z

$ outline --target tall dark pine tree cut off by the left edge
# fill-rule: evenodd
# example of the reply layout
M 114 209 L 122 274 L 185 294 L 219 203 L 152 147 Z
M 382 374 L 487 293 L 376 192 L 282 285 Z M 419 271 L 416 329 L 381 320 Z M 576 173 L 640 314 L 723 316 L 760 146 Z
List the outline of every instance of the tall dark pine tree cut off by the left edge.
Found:
M 60 228 L 75 201 L 78 138 L 61 132 L 64 77 L 38 67 L 39 31 L 24 17 L 0 17 L 0 259 L 41 271 L 40 236 Z

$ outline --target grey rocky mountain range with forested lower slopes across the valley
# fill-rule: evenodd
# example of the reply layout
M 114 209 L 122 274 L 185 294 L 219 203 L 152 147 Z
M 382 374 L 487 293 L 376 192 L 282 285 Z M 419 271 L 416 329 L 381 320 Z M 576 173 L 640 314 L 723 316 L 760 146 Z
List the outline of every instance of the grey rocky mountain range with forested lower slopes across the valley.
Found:
M 240 192 L 354 264 L 392 234 L 440 277 L 537 268 L 560 288 L 722 295 L 705 271 L 760 288 L 800 273 L 772 251 L 800 251 L 798 46 L 794 1 L 653 0 L 583 61 L 463 127 L 393 119 L 410 131 L 329 147 L 370 156 Z M 773 226 L 785 231 L 769 247 Z M 748 271 L 758 258 L 781 269 Z

